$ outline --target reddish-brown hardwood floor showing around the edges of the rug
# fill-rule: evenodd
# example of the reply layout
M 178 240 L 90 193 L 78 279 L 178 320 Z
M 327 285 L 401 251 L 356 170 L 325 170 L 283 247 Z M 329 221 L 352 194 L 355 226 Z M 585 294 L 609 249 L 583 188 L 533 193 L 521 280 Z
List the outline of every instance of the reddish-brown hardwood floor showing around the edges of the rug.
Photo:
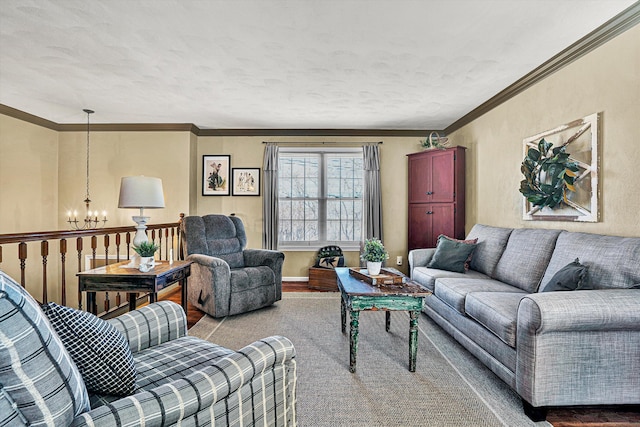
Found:
M 307 282 L 283 282 L 283 292 L 323 292 L 307 287 Z M 163 300 L 180 304 L 180 289 L 166 294 Z M 187 324 L 191 328 L 204 313 L 188 304 Z M 640 427 L 640 407 L 579 407 L 551 409 L 547 421 L 553 427 Z

